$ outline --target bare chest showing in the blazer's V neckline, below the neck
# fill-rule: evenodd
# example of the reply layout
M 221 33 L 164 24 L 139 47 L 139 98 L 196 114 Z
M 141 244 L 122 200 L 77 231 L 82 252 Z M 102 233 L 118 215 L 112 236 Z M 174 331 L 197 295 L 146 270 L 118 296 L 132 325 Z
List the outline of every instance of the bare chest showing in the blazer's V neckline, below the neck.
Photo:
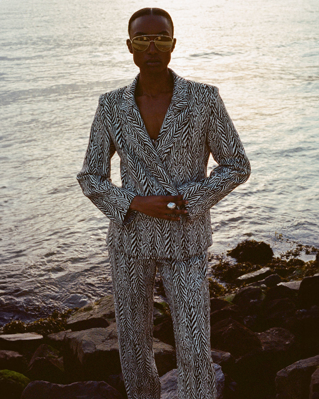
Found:
M 145 128 L 152 140 L 156 140 L 160 134 L 161 126 L 171 103 L 171 98 L 171 93 L 163 94 L 156 98 L 146 96 L 135 98 Z

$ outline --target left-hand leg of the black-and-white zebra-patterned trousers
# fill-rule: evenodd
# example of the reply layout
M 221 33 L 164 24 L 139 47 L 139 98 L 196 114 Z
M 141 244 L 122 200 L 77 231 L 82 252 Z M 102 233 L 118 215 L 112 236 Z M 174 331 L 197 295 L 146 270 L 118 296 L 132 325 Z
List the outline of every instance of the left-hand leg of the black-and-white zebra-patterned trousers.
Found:
M 109 251 L 118 344 L 128 399 L 160 399 L 153 352 L 156 263 Z

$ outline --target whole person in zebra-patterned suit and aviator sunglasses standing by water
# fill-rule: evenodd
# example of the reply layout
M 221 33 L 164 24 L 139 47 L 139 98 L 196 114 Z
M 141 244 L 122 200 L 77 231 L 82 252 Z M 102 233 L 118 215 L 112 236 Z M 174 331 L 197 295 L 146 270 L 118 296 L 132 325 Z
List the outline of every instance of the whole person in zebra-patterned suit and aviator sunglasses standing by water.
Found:
M 78 180 L 110 219 L 107 244 L 122 371 L 129 399 L 160 399 L 152 349 L 153 292 L 161 274 L 176 343 L 179 399 L 215 399 L 207 247 L 209 209 L 250 174 L 216 87 L 168 69 L 175 47 L 167 12 L 129 22 L 134 81 L 100 96 Z M 110 180 L 121 159 L 122 187 Z M 209 154 L 219 164 L 207 177 Z

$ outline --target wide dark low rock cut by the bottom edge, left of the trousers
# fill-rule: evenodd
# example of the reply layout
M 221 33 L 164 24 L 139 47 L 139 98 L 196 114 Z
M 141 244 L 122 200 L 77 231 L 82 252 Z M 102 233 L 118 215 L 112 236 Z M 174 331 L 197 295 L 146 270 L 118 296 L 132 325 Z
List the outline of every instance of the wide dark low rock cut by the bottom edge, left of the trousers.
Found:
M 123 396 L 104 381 L 69 385 L 32 381 L 23 391 L 21 399 L 123 399 Z

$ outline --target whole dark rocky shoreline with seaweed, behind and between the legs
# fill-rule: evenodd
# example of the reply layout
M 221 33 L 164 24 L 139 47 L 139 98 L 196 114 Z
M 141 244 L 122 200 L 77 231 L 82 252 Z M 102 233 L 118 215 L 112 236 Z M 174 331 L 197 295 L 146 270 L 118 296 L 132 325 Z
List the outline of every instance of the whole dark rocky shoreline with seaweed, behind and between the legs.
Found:
M 319 397 L 319 274 L 316 260 L 274 258 L 265 243 L 211 257 L 211 348 L 219 399 Z M 173 325 L 156 280 L 154 355 L 162 399 L 177 399 Z M 83 382 L 84 381 L 84 382 Z M 22 394 L 22 396 L 21 396 Z M 126 398 L 112 296 L 0 334 L 0 399 Z

